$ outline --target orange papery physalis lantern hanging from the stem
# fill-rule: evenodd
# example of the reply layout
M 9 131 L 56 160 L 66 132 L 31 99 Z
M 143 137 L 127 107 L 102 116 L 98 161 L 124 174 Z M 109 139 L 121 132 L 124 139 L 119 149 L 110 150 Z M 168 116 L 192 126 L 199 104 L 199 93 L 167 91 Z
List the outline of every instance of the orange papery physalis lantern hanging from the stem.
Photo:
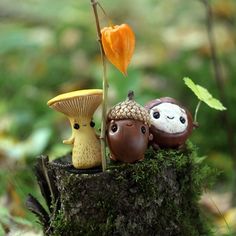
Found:
M 135 36 L 127 24 L 101 30 L 102 46 L 107 59 L 124 75 L 134 52 Z

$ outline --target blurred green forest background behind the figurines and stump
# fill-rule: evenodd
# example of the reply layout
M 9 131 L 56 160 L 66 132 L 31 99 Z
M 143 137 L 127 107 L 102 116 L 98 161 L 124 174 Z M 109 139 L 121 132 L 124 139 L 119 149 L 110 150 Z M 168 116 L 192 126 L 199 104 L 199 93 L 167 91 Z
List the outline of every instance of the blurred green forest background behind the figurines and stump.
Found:
M 234 134 L 236 1 L 210 2 L 217 56 L 223 69 L 224 105 Z M 171 96 L 194 113 L 198 100 L 184 85 L 185 76 L 219 98 L 202 1 L 100 0 L 100 4 L 114 24 L 128 23 L 136 35 L 128 77 L 108 63 L 109 107 L 124 100 L 132 89 L 142 105 Z M 99 17 L 101 26 L 107 26 L 101 11 Z M 32 170 L 35 158 L 43 153 L 53 159 L 71 148 L 62 144 L 70 136 L 69 122 L 46 103 L 60 93 L 84 88 L 102 88 L 102 64 L 90 1 L 1 0 L 0 223 L 5 230 L 23 228 L 40 234 L 34 217 L 24 207 L 27 193 L 40 197 Z M 99 111 L 95 119 L 98 130 Z M 223 221 L 225 218 L 230 227 L 236 228 L 236 210 L 230 204 L 232 189 L 236 188 L 233 158 L 222 113 L 203 104 L 198 122 L 200 127 L 190 139 L 198 146 L 199 155 L 206 155 L 206 161 L 221 173 L 211 196 L 219 208 L 225 204 L 220 208 Z M 216 235 L 229 233 L 210 198 L 204 195 L 201 204 L 215 222 Z

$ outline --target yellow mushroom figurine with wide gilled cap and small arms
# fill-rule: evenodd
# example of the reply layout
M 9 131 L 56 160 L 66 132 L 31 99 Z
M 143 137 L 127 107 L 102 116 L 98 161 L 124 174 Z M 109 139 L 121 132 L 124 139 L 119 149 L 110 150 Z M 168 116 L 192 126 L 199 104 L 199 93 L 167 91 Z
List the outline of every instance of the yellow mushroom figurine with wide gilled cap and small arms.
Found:
M 100 89 L 64 93 L 48 101 L 48 106 L 62 112 L 70 120 L 72 136 L 63 143 L 73 145 L 72 164 L 77 169 L 101 165 L 100 140 L 97 137 L 93 114 L 102 102 Z

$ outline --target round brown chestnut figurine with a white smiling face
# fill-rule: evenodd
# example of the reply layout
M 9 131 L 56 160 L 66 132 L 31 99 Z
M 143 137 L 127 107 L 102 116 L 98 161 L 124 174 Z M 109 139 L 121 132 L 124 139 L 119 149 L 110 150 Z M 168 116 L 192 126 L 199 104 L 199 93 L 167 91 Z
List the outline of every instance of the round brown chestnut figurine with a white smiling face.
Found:
M 191 113 L 178 101 L 170 97 L 152 100 L 145 105 L 151 119 L 150 142 L 154 149 L 179 148 L 197 126 Z

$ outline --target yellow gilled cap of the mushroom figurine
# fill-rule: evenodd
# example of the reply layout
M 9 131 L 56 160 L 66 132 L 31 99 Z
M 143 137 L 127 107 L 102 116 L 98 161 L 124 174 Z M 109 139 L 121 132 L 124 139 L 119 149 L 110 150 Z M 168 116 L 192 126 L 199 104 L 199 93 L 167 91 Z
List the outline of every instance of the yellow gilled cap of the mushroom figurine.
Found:
M 102 89 L 85 89 L 60 94 L 47 105 L 69 117 L 92 117 L 102 102 Z

